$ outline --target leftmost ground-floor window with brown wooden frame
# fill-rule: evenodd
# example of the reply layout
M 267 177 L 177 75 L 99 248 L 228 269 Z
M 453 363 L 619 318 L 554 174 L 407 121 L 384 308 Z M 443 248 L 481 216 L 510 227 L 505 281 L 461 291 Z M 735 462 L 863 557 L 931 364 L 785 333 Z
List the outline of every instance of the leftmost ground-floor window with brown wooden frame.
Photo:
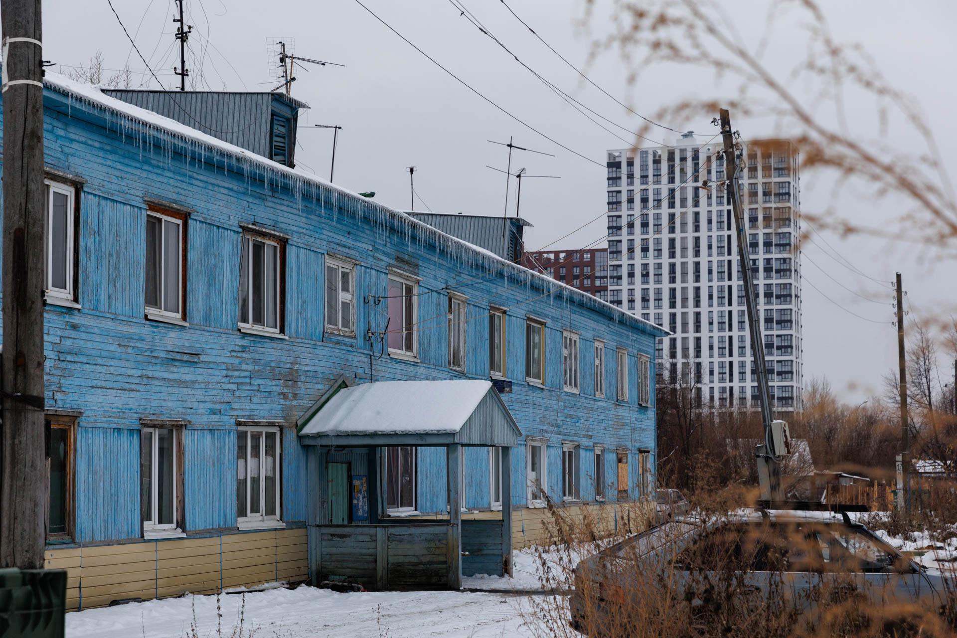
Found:
M 48 414 L 47 427 L 47 542 L 73 539 L 76 522 L 76 440 L 74 417 Z

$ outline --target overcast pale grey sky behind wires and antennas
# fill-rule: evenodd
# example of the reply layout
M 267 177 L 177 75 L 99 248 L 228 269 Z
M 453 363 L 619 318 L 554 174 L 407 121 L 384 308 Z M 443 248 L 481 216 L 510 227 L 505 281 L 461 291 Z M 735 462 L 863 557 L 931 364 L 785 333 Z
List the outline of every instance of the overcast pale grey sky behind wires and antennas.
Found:
M 625 146 L 621 140 L 598 128 L 571 109 L 555 94 L 520 67 L 494 42 L 460 17 L 449 0 L 363 0 L 399 33 L 523 121 L 556 141 L 604 162 L 608 148 Z M 639 121 L 611 99 L 580 81 L 574 71 L 551 54 L 496 0 L 464 0 L 465 6 L 510 49 L 550 81 L 614 121 L 637 128 Z M 553 47 L 574 64 L 583 67 L 596 38 L 611 32 L 608 2 L 598 0 L 597 11 L 587 28 L 581 26 L 584 0 L 510 0 L 509 5 Z M 743 33 L 753 33 L 764 20 L 766 3 L 727 2 L 727 11 Z M 957 58 L 953 33 L 957 3 L 918 0 L 902 11 L 900 2 L 824 2 L 835 37 L 859 41 L 877 59 L 883 73 L 902 91 L 924 107 L 951 175 L 957 174 L 957 122 L 954 104 L 957 89 L 949 67 Z M 172 0 L 113 0 L 116 11 L 150 66 L 167 87 L 178 78 L 174 46 Z M 402 209 L 410 206 L 408 165 L 418 166 L 415 189 L 435 211 L 501 214 L 504 207 L 504 176 L 485 167 L 504 167 L 506 151 L 486 140 L 515 142 L 552 153 L 555 157 L 517 154 L 514 167 L 529 173 L 560 175 L 560 180 L 528 180 L 523 185 L 522 216 L 534 224 L 526 244 L 536 249 L 603 212 L 605 169 L 548 142 L 522 124 L 511 120 L 488 102 L 456 82 L 376 21 L 355 0 L 286 0 L 263 3 L 253 0 L 186 0 L 188 23 L 194 26 L 189 39 L 187 66 L 196 88 L 268 90 L 270 65 L 267 38 L 295 42 L 297 55 L 345 64 L 340 67 L 310 66 L 297 73 L 294 97 L 311 109 L 300 123 L 339 124 L 335 182 L 354 190 L 374 190 L 376 199 Z M 105 66 L 126 65 L 143 71 L 144 64 L 131 51 L 106 0 L 44 3 L 44 56 L 63 65 L 85 63 L 101 49 Z M 800 25 L 781 22 L 768 65 L 781 77 L 790 71 L 797 53 L 803 53 Z M 797 52 L 797 53 L 795 53 Z M 589 75 L 612 95 L 629 101 L 634 110 L 652 113 L 683 97 L 715 93 L 715 79 L 694 69 L 673 73 L 653 71 L 628 86 L 626 68 L 618 55 L 600 55 Z M 65 70 L 57 68 L 55 70 Z M 134 85 L 142 74 L 137 74 Z M 148 77 L 146 77 L 148 78 Z M 155 87 L 155 82 L 151 84 Z M 862 113 L 862 126 L 873 126 L 866 114 L 870 102 L 849 103 L 855 118 Z M 733 118 L 734 114 L 732 114 Z M 710 118 L 669 122 L 681 130 L 713 134 Z M 745 137 L 787 131 L 772 131 L 763 122 L 734 120 Z M 649 137 L 663 140 L 660 130 Z M 862 135 L 874 136 L 873 130 Z M 889 136 L 906 150 L 920 146 L 906 133 L 892 130 Z M 895 137 L 898 136 L 898 137 Z M 627 137 L 627 135 L 625 136 Z M 327 130 L 300 129 L 300 166 L 328 178 L 332 135 Z M 814 176 L 802 179 L 802 208 L 823 209 L 831 197 L 829 180 Z M 514 210 L 514 200 L 510 204 Z M 854 221 L 880 220 L 899 214 L 901 202 L 841 200 L 842 213 Z M 416 201 L 416 209 L 424 209 Z M 583 231 L 556 248 L 576 248 L 605 234 L 600 216 Z M 847 256 L 861 271 L 890 281 L 896 271 L 904 275 L 916 315 L 955 313 L 957 266 L 927 258 L 911 245 L 889 244 L 865 237 L 842 239 L 826 234 L 836 251 Z M 805 285 L 804 365 L 805 382 L 812 376 L 827 376 L 847 401 L 862 401 L 879 391 L 880 376 L 896 366 L 897 341 L 890 306 L 891 292 L 868 279 L 838 266 L 827 253 L 834 250 L 816 236 L 804 244 L 804 254 L 827 271 L 823 274 L 804 260 L 804 272 L 823 294 L 844 308 L 875 324 L 857 319 Z M 829 278 L 864 297 L 857 297 Z M 952 364 L 945 362 L 945 365 Z

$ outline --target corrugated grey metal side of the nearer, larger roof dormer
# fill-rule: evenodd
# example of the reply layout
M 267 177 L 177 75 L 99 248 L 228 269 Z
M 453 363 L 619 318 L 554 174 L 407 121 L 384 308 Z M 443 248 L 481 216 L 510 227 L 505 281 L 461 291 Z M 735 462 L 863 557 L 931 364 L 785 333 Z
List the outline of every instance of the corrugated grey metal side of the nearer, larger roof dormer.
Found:
M 308 108 L 280 93 L 229 91 L 143 91 L 102 89 L 110 97 L 199 129 L 223 142 L 270 157 L 270 115 L 275 101 L 282 111 Z

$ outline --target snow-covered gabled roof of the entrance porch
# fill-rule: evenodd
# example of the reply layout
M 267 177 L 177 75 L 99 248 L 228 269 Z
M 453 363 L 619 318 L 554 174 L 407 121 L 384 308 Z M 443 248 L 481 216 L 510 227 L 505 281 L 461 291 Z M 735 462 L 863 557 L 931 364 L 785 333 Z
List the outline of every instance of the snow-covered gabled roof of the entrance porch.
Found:
M 299 422 L 303 445 L 514 447 L 522 431 L 489 381 L 337 383 Z

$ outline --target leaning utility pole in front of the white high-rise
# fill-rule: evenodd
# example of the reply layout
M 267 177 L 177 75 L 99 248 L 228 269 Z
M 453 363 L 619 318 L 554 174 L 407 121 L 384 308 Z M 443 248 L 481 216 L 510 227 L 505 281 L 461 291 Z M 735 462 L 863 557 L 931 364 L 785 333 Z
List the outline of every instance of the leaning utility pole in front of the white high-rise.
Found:
M 754 275 L 751 272 L 751 258 L 747 253 L 747 231 L 745 217 L 741 209 L 741 192 L 738 190 L 738 153 L 734 143 L 734 131 L 731 129 L 731 117 L 727 109 L 721 109 L 719 121 L 724 143 L 724 176 L 726 179 L 727 197 L 731 202 L 734 215 L 734 224 L 738 231 L 738 261 L 741 265 L 741 275 L 745 285 L 745 307 L 747 323 L 750 326 L 751 350 L 753 354 L 754 371 L 758 379 L 758 398 L 761 404 L 761 422 L 764 426 L 765 443 L 759 446 L 758 468 L 759 474 L 762 464 L 768 471 L 768 491 L 762 486 L 764 500 L 783 500 L 781 491 L 781 464 L 778 459 L 780 450 L 772 442 L 773 416 L 771 414 L 770 390 L 768 389 L 768 366 L 765 363 L 765 345 L 761 338 L 761 317 L 758 315 L 757 299 L 754 298 Z

